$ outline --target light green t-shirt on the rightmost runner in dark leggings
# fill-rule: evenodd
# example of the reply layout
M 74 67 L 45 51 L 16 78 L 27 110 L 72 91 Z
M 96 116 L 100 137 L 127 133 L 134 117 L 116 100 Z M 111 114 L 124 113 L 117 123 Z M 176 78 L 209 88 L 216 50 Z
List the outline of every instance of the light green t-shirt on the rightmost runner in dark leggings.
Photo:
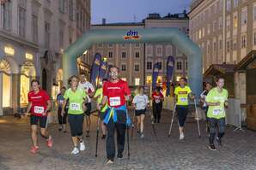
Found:
M 213 88 L 209 91 L 205 101 L 206 103 L 217 103 L 219 102 L 219 106 L 209 106 L 207 117 L 221 119 L 226 116 L 224 103 L 228 100 L 229 93 L 226 89 L 222 89 L 222 92 L 217 91 L 216 88 Z

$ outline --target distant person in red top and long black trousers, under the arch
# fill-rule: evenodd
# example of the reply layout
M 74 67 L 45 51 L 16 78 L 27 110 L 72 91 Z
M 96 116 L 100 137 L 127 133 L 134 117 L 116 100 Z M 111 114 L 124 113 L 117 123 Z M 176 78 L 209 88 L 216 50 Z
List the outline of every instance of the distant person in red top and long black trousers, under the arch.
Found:
M 161 119 L 162 102 L 163 102 L 161 87 L 155 88 L 155 91 L 153 92 L 151 99 L 153 101 L 154 123 L 159 123 Z

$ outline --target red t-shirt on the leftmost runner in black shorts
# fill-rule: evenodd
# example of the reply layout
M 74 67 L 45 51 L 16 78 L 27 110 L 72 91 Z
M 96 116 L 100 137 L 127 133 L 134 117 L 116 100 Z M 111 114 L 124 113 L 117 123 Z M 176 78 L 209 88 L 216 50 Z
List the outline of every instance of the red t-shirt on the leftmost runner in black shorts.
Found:
M 30 113 L 36 116 L 43 116 L 42 114 L 46 111 L 48 100 L 50 100 L 50 97 L 46 91 L 40 90 L 37 94 L 34 94 L 34 91 L 29 91 L 28 102 L 32 103 Z

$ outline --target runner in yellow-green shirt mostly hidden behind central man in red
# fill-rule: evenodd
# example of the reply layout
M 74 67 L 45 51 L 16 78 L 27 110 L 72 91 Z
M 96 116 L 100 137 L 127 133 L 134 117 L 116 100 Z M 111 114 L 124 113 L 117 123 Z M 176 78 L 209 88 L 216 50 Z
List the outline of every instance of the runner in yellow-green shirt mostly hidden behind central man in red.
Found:
M 98 85 L 98 89 L 94 94 L 94 98 L 97 100 L 97 108 L 99 110 L 99 115 L 101 118 L 101 130 L 102 130 L 102 138 L 101 139 L 105 139 L 106 138 L 106 133 L 107 133 L 107 129 L 106 126 L 104 125 L 104 115 L 107 109 L 107 103 L 105 104 L 104 107 L 100 107 L 102 99 L 103 99 L 103 88 L 102 85 L 104 85 L 107 82 L 107 79 L 102 79 L 102 84 Z

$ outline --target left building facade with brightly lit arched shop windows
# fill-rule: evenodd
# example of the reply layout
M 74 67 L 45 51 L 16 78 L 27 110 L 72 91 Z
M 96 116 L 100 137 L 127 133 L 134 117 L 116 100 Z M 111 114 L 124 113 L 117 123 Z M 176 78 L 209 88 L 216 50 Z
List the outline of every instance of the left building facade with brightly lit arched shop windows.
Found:
M 89 0 L 7 0 L 0 4 L 0 115 L 27 107 L 30 81 L 55 98 L 62 54 L 90 26 Z M 88 62 L 88 57 L 82 56 Z

